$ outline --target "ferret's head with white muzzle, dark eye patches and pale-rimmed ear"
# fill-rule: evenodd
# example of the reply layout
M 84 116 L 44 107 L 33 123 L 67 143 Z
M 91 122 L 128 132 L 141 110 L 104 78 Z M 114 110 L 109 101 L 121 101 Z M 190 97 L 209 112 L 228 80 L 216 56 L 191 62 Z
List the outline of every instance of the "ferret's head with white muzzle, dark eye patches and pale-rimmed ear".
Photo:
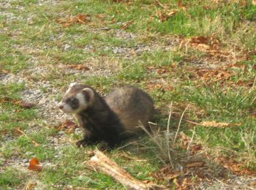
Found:
M 94 91 L 83 84 L 71 83 L 58 107 L 64 113 L 80 113 L 91 104 Z

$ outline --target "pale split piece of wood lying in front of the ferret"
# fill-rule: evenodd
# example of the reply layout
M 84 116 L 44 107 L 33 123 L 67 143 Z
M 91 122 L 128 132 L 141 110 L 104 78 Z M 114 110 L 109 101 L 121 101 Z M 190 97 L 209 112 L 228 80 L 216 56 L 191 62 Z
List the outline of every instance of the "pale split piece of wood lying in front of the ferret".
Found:
M 118 167 L 115 161 L 110 160 L 102 151 L 94 151 L 94 156 L 87 161 L 89 167 L 94 170 L 104 172 L 113 179 L 124 185 L 127 189 L 144 190 L 144 189 L 167 189 L 164 186 L 158 186 L 154 183 L 143 183 L 135 179 L 127 171 Z

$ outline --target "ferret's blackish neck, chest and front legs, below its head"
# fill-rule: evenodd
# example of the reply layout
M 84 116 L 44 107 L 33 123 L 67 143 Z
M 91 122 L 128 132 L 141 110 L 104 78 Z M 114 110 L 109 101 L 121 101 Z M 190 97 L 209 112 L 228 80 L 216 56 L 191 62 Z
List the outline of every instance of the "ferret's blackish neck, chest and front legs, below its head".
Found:
M 110 110 L 108 104 L 99 95 L 94 94 L 95 102 L 82 113 L 79 113 L 78 121 L 84 129 L 83 140 L 77 145 L 91 145 L 97 142 L 105 142 L 108 148 L 115 148 L 122 140 L 121 134 L 124 126 L 116 113 Z

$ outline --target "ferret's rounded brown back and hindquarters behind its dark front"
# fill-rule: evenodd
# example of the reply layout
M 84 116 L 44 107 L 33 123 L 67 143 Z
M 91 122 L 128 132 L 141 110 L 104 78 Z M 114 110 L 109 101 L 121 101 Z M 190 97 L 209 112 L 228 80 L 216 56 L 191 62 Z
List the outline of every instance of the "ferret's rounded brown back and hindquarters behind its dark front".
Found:
M 154 113 L 151 97 L 135 86 L 116 88 L 105 100 L 130 133 L 141 132 L 140 122 L 143 126 L 148 126 Z

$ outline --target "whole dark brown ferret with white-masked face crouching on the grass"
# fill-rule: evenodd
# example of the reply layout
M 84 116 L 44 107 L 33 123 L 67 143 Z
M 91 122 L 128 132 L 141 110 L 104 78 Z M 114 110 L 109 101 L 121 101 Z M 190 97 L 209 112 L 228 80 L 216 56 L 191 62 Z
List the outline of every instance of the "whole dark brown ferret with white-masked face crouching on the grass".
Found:
M 154 114 L 151 96 L 135 86 L 116 88 L 105 99 L 94 88 L 71 83 L 58 104 L 64 113 L 75 114 L 83 129 L 83 138 L 76 145 L 86 146 L 97 142 L 107 143 L 109 148 L 148 126 Z

